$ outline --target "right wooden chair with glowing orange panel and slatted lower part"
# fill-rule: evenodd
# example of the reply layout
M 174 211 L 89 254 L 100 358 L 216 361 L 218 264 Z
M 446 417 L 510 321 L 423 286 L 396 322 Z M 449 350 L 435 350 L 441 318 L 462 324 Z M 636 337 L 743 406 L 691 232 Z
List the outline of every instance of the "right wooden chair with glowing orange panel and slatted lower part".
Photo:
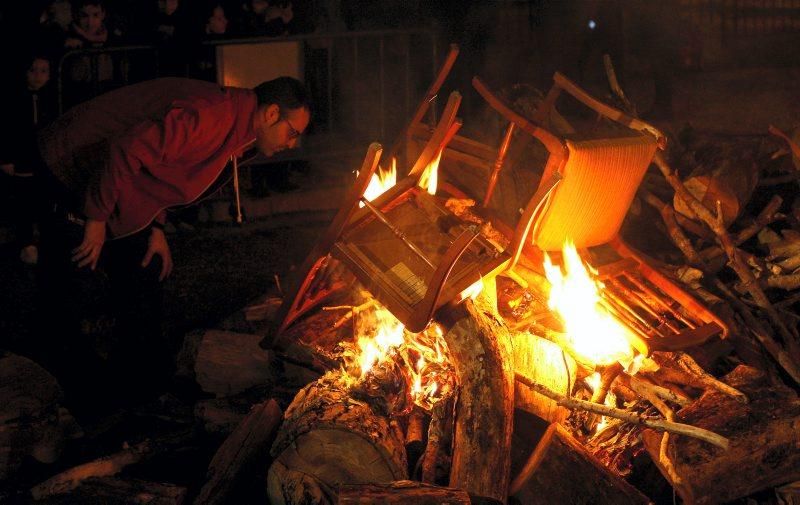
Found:
M 492 93 L 479 79 L 473 85 L 510 125 L 541 142 L 549 156 L 542 181 L 561 176 L 541 208 L 527 208 L 514 229 L 509 249 L 514 268 L 522 254 L 541 264 L 540 251 L 560 251 L 572 241 L 584 257 L 611 257 L 600 266 L 606 307 L 640 337 L 634 342 L 647 354 L 654 349 L 681 349 L 727 333 L 725 324 L 694 297 L 667 279 L 628 247 L 619 230 L 656 149 L 666 138 L 655 127 L 593 98 L 556 73 L 553 86 L 535 117 L 527 119 Z M 546 127 L 566 93 L 610 120 L 612 135 L 557 133 Z M 489 186 L 491 188 L 491 186 Z M 531 247 L 533 246 L 533 247 Z

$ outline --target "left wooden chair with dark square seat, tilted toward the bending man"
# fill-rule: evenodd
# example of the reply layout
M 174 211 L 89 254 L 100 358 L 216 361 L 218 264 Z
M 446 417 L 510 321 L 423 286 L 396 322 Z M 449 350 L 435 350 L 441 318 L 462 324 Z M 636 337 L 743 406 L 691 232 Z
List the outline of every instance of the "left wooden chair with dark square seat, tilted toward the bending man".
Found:
M 382 149 L 370 147 L 358 180 L 299 270 L 300 280 L 288 291 L 263 346 L 271 346 L 304 312 L 343 287 L 341 282 L 320 281 L 330 257 L 344 263 L 412 332 L 422 331 L 437 308 L 505 263 L 477 230 L 448 219 L 450 211 L 418 187 L 424 169 L 461 126 L 456 118 L 460 102 L 459 93 L 450 94 L 408 175 L 373 202 L 363 195 Z

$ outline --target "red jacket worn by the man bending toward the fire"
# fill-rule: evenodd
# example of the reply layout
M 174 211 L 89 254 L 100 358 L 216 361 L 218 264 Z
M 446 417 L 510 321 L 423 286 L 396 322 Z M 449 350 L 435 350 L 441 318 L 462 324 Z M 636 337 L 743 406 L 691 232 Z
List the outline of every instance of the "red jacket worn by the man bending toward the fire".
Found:
M 80 104 L 42 131 L 45 164 L 113 237 L 189 203 L 255 139 L 252 90 L 165 78 Z

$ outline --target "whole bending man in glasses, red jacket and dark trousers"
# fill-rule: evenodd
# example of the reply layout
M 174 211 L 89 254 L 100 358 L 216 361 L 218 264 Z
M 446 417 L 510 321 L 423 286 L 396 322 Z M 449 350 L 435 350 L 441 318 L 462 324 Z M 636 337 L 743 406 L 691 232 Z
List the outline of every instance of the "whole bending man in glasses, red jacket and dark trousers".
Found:
M 137 377 L 132 390 L 145 390 L 143 375 L 153 374 L 137 368 L 146 362 L 150 371 L 169 358 L 158 287 L 172 269 L 165 210 L 197 200 L 251 147 L 266 156 L 294 147 L 309 120 L 305 88 L 289 77 L 254 89 L 165 78 L 89 100 L 41 132 L 50 202 L 40 252 L 42 333 L 49 357 L 57 355 L 53 371 L 76 379 L 73 391 L 84 389 L 84 379 L 98 382 L 82 363 L 97 354 L 96 335 L 86 329 L 98 326 L 86 320 L 97 307 L 83 298 L 96 294 L 98 261 L 110 281 L 117 345 L 109 365 L 118 376 Z

